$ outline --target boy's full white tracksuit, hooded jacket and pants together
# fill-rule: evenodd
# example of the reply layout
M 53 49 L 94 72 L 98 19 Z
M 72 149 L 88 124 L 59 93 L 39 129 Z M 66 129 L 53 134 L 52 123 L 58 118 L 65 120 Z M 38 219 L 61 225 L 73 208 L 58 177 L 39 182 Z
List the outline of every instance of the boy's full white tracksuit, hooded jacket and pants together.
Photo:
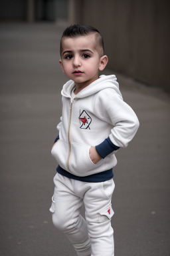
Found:
M 54 177 L 52 221 L 66 234 L 77 255 L 114 256 L 114 181 L 107 180 L 104 173 L 116 165 L 116 149 L 133 139 L 139 121 L 123 101 L 114 75 L 100 76 L 74 100 L 73 88 L 74 81 L 70 80 L 62 89 L 62 118 L 57 126 L 60 139 L 52 147 L 61 170 Z M 96 165 L 89 157 L 90 147 L 96 147 L 102 156 Z M 100 174 L 102 182 L 98 180 Z M 86 221 L 80 215 L 83 202 Z

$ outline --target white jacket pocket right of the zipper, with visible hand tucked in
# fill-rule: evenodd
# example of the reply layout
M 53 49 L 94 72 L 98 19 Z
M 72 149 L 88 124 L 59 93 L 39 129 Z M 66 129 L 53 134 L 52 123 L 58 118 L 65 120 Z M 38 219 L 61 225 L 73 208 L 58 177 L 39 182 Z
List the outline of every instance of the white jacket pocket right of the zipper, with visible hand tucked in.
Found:
M 72 144 L 70 157 L 70 171 L 78 176 L 87 176 L 88 171 L 102 165 L 101 159 L 96 165 L 92 162 L 89 155 L 90 146 Z

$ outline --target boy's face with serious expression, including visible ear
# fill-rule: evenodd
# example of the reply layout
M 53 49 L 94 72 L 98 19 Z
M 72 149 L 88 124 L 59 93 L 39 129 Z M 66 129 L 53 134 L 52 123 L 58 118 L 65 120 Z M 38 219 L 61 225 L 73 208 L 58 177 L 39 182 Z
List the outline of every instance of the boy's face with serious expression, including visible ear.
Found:
M 76 86 L 86 87 L 98 79 L 98 71 L 108 63 L 106 55 L 100 56 L 94 34 L 64 37 L 59 61 L 63 72 Z

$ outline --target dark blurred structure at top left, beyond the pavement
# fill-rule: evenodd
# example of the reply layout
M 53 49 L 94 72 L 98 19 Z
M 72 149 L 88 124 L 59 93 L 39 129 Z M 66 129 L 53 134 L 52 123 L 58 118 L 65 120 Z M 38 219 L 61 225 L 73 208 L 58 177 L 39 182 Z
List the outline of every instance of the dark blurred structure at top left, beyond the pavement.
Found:
M 0 21 L 56 21 L 68 18 L 68 0 L 1 0 Z

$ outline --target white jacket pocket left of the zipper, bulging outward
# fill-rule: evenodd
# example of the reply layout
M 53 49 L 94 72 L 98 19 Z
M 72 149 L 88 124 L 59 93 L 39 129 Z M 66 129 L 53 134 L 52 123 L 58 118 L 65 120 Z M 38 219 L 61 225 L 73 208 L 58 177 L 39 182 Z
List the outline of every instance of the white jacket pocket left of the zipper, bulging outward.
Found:
M 68 155 L 68 144 L 59 139 L 51 150 L 52 156 L 56 159 L 58 165 L 66 170 L 66 159 Z

